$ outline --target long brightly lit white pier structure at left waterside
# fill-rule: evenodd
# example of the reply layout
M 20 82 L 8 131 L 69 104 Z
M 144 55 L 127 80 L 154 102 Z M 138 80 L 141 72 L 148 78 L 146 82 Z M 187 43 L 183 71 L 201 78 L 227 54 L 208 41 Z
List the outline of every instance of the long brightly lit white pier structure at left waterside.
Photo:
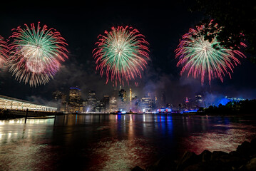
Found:
M 39 112 L 55 112 L 57 108 L 51 106 L 39 105 L 26 100 L 17 98 L 11 98 L 4 95 L 0 95 L 0 108 L 5 110 L 29 110 Z

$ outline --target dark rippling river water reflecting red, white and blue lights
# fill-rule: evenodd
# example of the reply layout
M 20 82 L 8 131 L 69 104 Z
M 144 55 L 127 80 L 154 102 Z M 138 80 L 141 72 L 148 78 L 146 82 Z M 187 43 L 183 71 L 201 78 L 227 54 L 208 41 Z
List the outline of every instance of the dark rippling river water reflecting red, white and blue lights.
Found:
M 186 150 L 230 152 L 256 138 L 255 117 L 59 115 L 0 120 L 0 170 L 130 170 Z

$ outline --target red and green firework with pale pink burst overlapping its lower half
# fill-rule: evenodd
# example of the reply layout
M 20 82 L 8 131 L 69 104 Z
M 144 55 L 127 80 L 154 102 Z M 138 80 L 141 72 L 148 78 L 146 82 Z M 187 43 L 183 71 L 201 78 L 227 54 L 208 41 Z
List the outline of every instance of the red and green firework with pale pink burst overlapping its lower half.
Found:
M 37 27 L 31 24 L 31 28 L 24 24 L 25 28 L 13 29 L 7 61 L 16 80 L 35 87 L 53 79 L 60 62 L 68 58 L 67 43 L 61 33 L 46 25 L 41 28 L 39 24 Z

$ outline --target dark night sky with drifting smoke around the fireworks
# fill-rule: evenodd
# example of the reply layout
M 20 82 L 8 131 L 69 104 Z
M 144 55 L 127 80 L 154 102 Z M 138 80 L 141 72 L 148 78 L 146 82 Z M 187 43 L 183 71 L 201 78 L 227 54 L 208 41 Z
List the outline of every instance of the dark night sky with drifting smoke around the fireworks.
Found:
M 168 4 L 166 4 L 168 2 Z M 65 4 L 66 3 L 66 4 Z M 0 10 L 0 35 L 11 36 L 11 29 L 24 24 L 46 24 L 48 28 L 56 28 L 68 43 L 68 60 L 62 63 L 54 80 L 31 88 L 19 83 L 8 68 L 0 73 L 0 94 L 24 100 L 45 103 L 51 100 L 55 90 L 68 91 L 71 86 L 81 88 L 83 98 L 88 90 L 96 90 L 98 98 L 109 94 L 113 87 L 105 84 L 95 71 L 92 56 L 97 36 L 109 31 L 112 26 L 132 26 L 137 28 L 150 43 L 148 68 L 139 86 L 131 88 L 138 96 L 148 91 L 158 96 L 165 93 L 168 103 L 180 103 L 186 96 L 193 98 L 195 93 L 204 93 L 206 98 L 227 95 L 241 98 L 256 98 L 256 65 L 247 59 L 240 59 L 242 65 L 232 73 L 232 79 L 224 78 L 224 83 L 214 80 L 209 86 L 208 81 L 201 86 L 200 78 L 193 79 L 180 76 L 180 68 L 176 67 L 175 48 L 179 39 L 194 28 L 203 19 L 203 14 L 189 12 L 190 4 L 173 1 L 158 1 L 151 4 L 136 1 L 94 1 L 93 4 L 76 1 L 61 4 L 43 1 L 41 4 L 6 4 Z M 246 54 L 250 56 L 250 54 Z M 124 89 L 128 90 L 129 86 Z

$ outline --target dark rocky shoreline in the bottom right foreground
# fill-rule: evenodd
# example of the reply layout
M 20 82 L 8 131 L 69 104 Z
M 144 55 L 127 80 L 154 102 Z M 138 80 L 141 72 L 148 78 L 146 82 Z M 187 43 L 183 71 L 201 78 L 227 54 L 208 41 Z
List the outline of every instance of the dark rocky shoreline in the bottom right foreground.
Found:
M 132 171 L 256 171 L 256 138 L 251 142 L 242 142 L 237 150 L 232 152 L 204 150 L 200 155 L 195 152 L 185 152 L 183 157 L 172 160 L 162 157 L 143 170 L 136 166 Z

